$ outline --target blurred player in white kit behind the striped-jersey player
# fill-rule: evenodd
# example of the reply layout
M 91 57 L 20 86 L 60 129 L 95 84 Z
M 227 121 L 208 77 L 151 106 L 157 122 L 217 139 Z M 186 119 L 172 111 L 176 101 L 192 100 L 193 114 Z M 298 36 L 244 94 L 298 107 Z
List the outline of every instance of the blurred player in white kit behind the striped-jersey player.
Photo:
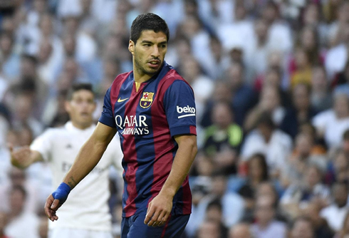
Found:
M 10 148 L 12 164 L 26 168 L 33 162 L 48 162 L 53 174 L 53 187 L 57 187 L 96 127 L 92 116 L 94 99 L 90 84 L 74 85 L 66 100 L 66 110 L 71 120 L 61 128 L 46 130 L 33 141 L 30 148 Z M 50 222 L 49 237 L 113 237 L 108 207 L 108 175 L 110 165 L 121 165 L 122 157 L 120 143 L 110 143 L 95 169 L 71 192 L 70 199 L 60 210 L 61 219 Z

